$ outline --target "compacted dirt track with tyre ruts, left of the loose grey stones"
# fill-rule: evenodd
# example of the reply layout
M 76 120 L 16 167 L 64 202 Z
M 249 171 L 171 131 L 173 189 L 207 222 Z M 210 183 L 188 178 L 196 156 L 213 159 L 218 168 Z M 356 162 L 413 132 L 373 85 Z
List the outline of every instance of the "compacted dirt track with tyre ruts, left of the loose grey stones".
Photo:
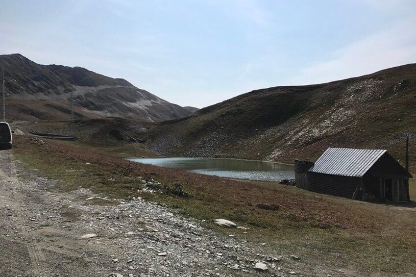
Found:
M 78 239 L 81 230 L 61 205 L 71 198 L 60 204 L 46 191 L 53 182 L 21 173 L 11 151 L 0 151 L 1 276 L 108 275 L 89 258 L 100 248 Z

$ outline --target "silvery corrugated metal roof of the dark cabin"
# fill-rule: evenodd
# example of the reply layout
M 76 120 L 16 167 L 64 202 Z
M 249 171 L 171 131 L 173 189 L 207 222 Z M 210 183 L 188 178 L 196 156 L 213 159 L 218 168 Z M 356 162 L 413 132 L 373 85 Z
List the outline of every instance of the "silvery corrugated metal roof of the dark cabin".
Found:
M 309 171 L 362 177 L 385 152 L 379 149 L 328 148 Z

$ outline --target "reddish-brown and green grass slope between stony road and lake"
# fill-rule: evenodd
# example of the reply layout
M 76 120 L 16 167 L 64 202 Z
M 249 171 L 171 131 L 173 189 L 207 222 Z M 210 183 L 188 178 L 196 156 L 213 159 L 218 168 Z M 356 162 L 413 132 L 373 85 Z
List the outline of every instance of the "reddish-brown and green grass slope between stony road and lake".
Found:
M 275 182 L 248 182 L 132 164 L 96 149 L 16 136 L 14 153 L 29 167 L 60 180 L 59 189 L 91 189 L 110 198 L 141 196 L 210 224 L 225 218 L 243 230 L 233 233 L 270 251 L 296 253 L 306 264 L 360 272 L 409 273 L 414 268 L 416 217 L 411 208 L 319 195 Z M 141 193 L 141 178 L 163 185 Z M 190 197 L 172 193 L 179 182 Z M 415 182 L 412 182 L 415 188 Z M 413 194 L 412 194 L 413 195 Z M 270 208 L 272 207 L 272 208 Z M 393 266 L 392 266 L 393 265 Z

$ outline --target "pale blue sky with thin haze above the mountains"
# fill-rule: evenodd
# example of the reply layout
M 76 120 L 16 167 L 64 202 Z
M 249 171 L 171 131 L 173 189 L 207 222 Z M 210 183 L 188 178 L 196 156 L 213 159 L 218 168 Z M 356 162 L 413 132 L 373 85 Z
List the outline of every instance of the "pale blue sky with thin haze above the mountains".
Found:
M 0 54 L 202 108 L 416 62 L 416 0 L 0 0 Z

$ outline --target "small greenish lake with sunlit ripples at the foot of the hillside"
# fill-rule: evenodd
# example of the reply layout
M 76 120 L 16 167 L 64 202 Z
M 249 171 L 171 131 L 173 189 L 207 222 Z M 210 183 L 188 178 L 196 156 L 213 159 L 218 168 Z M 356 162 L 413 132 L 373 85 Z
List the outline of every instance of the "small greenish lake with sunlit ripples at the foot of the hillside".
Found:
M 248 180 L 280 181 L 294 178 L 292 165 L 214 158 L 130 158 L 130 161 L 189 172 Z

